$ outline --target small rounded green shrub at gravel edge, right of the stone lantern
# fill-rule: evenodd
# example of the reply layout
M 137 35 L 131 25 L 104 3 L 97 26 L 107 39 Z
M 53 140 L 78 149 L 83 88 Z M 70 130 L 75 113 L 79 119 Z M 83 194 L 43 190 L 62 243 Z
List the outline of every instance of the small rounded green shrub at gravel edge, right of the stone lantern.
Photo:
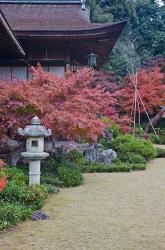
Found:
M 58 169 L 58 177 L 62 186 L 78 186 L 83 182 L 83 176 L 78 168 L 61 166 Z

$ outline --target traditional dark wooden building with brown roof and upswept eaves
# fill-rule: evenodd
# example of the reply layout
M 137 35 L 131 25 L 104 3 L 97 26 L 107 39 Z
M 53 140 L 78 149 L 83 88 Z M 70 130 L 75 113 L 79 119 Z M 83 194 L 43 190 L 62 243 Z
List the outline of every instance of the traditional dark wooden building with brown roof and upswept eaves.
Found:
M 62 76 L 95 54 L 99 69 L 124 26 L 91 23 L 84 0 L 0 0 L 0 79 L 27 79 L 38 62 Z

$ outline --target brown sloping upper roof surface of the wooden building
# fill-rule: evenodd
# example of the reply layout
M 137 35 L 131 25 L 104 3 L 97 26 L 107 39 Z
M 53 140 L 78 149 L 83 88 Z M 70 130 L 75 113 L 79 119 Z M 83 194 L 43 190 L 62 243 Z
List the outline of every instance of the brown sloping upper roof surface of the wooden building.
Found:
M 10 26 L 21 30 L 80 30 L 91 27 L 81 4 L 0 4 Z

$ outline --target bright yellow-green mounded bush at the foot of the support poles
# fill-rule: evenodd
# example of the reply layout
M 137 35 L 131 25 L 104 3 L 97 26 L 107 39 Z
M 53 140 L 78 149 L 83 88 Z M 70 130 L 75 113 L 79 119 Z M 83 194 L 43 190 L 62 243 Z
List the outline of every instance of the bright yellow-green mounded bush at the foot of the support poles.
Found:
M 156 150 L 151 141 L 134 139 L 131 135 L 120 135 L 111 142 L 111 147 L 118 153 L 134 152 L 142 155 L 146 159 L 152 159 L 156 155 Z

